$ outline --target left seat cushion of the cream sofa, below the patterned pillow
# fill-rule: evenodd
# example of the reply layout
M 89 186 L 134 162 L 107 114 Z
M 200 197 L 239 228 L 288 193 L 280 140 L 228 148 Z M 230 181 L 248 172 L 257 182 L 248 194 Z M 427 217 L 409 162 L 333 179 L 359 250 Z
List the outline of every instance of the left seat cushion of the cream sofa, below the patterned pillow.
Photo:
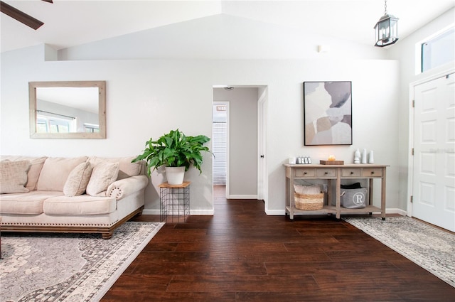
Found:
M 43 212 L 43 201 L 55 196 L 61 196 L 58 191 L 31 191 L 29 193 L 0 195 L 1 214 L 38 215 Z

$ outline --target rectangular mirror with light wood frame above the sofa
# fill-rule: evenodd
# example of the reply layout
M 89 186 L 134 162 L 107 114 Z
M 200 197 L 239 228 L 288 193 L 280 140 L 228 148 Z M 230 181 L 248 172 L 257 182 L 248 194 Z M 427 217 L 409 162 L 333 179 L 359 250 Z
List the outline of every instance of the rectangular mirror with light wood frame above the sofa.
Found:
M 106 81 L 28 82 L 32 139 L 105 139 Z

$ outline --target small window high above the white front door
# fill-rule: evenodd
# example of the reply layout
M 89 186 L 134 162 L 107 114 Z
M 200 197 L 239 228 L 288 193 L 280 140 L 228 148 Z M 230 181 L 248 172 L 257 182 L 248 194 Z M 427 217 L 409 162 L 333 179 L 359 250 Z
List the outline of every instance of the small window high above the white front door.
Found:
M 425 72 L 455 60 L 455 28 L 422 43 L 422 68 Z

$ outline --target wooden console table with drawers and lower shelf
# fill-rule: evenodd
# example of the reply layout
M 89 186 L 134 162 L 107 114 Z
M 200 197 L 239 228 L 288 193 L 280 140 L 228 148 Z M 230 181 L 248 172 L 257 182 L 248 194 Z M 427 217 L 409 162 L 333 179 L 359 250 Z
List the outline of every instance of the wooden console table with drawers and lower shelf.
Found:
M 285 163 L 286 167 L 286 214 L 291 219 L 294 215 L 321 215 L 335 214 L 340 218 L 341 214 L 365 214 L 372 212 L 381 212 L 382 220 L 385 220 L 385 168 L 384 165 L 375 164 L 350 164 L 350 165 L 299 165 Z M 342 179 L 369 179 L 368 183 L 368 205 L 362 209 L 347 209 L 341 207 L 341 180 Z M 373 180 L 381 180 L 381 206 L 373 205 Z M 294 205 L 294 180 L 318 180 L 327 181 L 328 192 L 327 202 L 324 201 L 322 210 L 299 210 Z M 335 205 L 332 205 L 332 184 L 333 180 L 335 189 Z

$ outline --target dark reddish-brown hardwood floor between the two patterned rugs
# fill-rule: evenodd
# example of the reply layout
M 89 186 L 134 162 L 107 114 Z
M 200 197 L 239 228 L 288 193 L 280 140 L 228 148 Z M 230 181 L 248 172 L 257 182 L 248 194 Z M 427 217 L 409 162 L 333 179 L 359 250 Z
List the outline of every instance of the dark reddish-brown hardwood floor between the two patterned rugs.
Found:
M 215 193 L 215 215 L 166 223 L 102 301 L 441 302 L 455 288 L 343 220 Z

